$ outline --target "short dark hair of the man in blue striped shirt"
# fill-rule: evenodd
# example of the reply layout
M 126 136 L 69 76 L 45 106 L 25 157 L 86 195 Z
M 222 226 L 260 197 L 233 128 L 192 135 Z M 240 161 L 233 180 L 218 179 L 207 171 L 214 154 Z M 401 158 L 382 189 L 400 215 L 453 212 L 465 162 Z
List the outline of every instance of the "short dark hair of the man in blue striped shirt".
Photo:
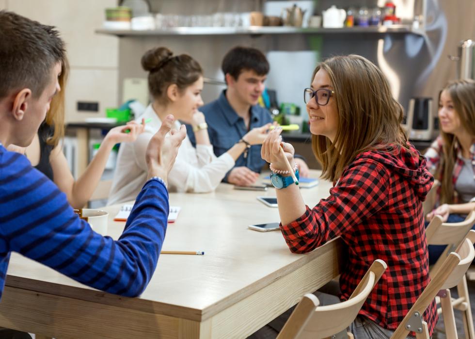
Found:
M 0 11 L 0 98 L 22 88 L 41 96 L 64 54 L 64 42 L 53 26 Z

